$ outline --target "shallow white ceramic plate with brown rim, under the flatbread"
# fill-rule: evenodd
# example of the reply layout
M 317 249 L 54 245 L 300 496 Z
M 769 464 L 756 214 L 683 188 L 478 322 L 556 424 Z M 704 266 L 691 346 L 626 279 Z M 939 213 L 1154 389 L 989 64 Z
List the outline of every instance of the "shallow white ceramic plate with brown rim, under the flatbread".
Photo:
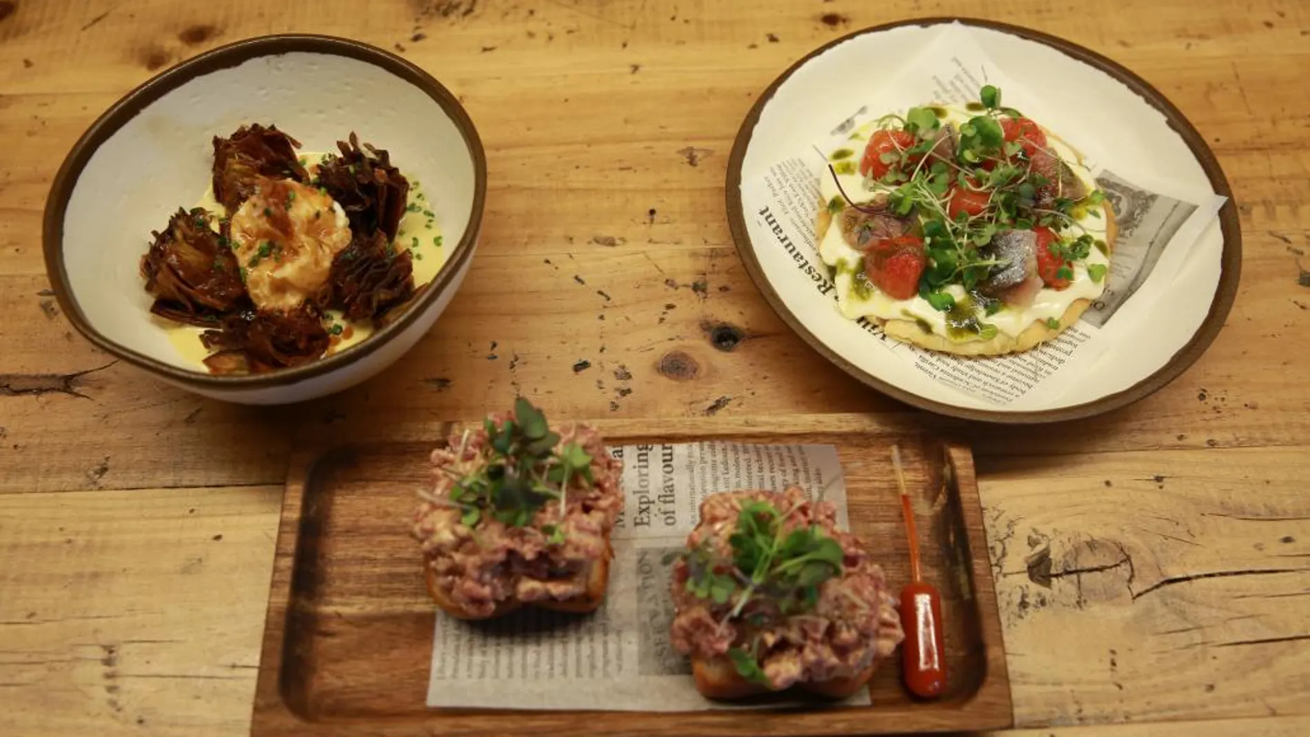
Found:
M 956 43 L 960 39 L 968 43 Z M 942 75 L 926 77 L 931 84 L 907 92 L 903 82 L 884 79 L 899 73 L 889 60 L 914 59 L 934 45 L 945 54 L 908 64 L 918 72 L 905 72 L 924 75 L 925 63 L 946 64 Z M 979 56 L 969 56 L 969 50 Z M 988 64 L 981 69 L 968 63 L 982 58 Z M 952 65 L 959 59 L 965 62 Z M 1116 288 L 1111 279 L 1103 304 L 1094 304 L 1079 330 L 1027 353 L 954 359 L 880 336 L 875 323 L 838 314 L 832 274 L 815 253 L 812 223 L 825 164 L 821 141 L 844 140 L 832 136 L 848 134 L 852 120 L 939 102 L 955 73 L 973 94 L 982 81 L 1006 80 L 1011 92 L 1040 107 L 1040 123 L 1072 137 L 1074 148 L 1091 149 L 1089 158 L 1099 158 L 1111 171 L 1098 183 L 1115 207 L 1121 234 L 1127 233 L 1116 241 L 1116 249 L 1123 241 L 1124 251 L 1115 258 L 1151 264 L 1120 280 L 1117 298 L 1110 297 Z M 1024 109 L 1023 102 L 1007 101 Z M 1120 186 L 1120 178 L 1132 185 Z M 988 422 L 1085 418 L 1155 391 L 1214 339 L 1241 268 L 1237 206 L 1227 181 L 1176 107 L 1099 54 L 988 21 L 901 21 L 855 31 L 800 59 L 760 96 L 741 124 L 726 195 L 747 271 L 779 317 L 816 351 L 897 399 Z M 774 203 L 778 212 L 766 212 L 761 202 Z M 1161 238 L 1169 247 L 1149 247 Z M 1093 335 L 1093 347 L 1073 346 L 1078 334 Z M 1035 387 L 1020 387 L 1028 376 Z

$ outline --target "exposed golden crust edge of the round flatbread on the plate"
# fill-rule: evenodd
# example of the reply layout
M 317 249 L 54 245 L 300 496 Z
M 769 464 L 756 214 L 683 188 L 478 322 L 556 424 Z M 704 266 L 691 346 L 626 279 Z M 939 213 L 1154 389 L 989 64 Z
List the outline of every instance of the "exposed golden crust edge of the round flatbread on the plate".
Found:
M 1102 203 L 1100 207 L 1106 213 L 1106 247 L 1110 249 L 1111 254 L 1114 254 L 1115 236 L 1117 234 L 1115 212 L 1111 209 L 1108 202 Z M 832 213 L 828 212 L 828 203 L 820 200 L 819 216 L 815 219 L 815 226 L 817 228 L 820 242 L 828 233 L 828 228 L 831 225 Z M 1108 283 L 1110 272 L 1107 271 L 1103 284 L 1108 285 Z M 951 340 L 946 335 L 925 333 L 924 329 L 920 327 L 918 322 L 912 319 L 883 319 L 872 315 L 870 315 L 869 319 L 880 325 L 883 331 L 889 338 L 900 340 L 901 343 L 910 343 L 929 351 L 939 351 L 956 356 L 1002 356 L 1005 353 L 1022 353 L 1024 351 L 1031 351 L 1045 342 L 1055 340 L 1056 336 L 1064 333 L 1066 327 L 1078 322 L 1078 318 L 1082 317 L 1082 313 L 1089 306 L 1091 306 L 1091 300 L 1074 300 L 1065 313 L 1060 315 L 1060 327 L 1049 327 L 1045 321 L 1034 319 L 1032 325 L 1026 327 L 1023 333 L 1019 333 L 1018 335 L 997 333 L 986 340 Z

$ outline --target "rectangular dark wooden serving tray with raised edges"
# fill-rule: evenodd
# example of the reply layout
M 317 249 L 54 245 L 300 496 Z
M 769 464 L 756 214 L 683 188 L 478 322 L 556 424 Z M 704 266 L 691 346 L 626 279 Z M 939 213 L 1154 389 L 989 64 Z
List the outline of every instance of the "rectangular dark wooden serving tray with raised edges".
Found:
M 948 686 L 916 702 L 897 655 L 871 685 L 871 706 L 760 711 L 617 712 L 436 710 L 426 706 L 438 611 L 409 537 L 414 490 L 430 483 L 430 441 L 388 441 L 296 454 L 282 508 L 252 734 L 608 736 L 886 734 L 1013 725 L 996 592 L 969 450 L 872 420 L 713 418 L 600 422 L 612 445 L 740 441 L 827 444 L 838 450 L 850 524 L 893 592 L 908 581 L 908 546 L 891 470 L 901 446 L 916 496 L 925 577 L 942 592 Z M 597 692 L 597 704 L 604 694 Z M 506 706 L 514 682 L 506 682 Z

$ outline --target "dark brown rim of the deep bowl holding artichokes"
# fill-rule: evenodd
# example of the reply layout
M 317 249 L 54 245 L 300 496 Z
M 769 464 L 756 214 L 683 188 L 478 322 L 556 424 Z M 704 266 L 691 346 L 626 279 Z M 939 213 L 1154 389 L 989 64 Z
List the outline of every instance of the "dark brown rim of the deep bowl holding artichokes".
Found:
M 312 364 L 303 367 L 280 369 L 271 373 L 245 374 L 245 376 L 214 376 L 199 370 L 187 370 L 165 364 L 157 359 L 132 351 L 124 346 L 109 340 L 97 333 L 88 322 L 68 289 L 68 274 L 64 270 L 63 236 L 64 211 L 68 207 L 68 198 L 72 196 L 73 185 L 81 175 L 83 169 L 102 143 L 118 132 L 128 120 L 147 109 L 151 103 L 164 97 L 169 92 L 182 86 L 195 77 L 236 67 L 250 59 L 259 56 L 274 56 L 290 52 L 330 54 L 367 62 L 380 67 L 397 77 L 410 82 L 423 90 L 432 101 L 441 106 L 451 122 L 458 128 L 464 137 L 464 144 L 473 156 L 473 211 L 469 213 L 469 224 L 455 246 L 451 257 L 441 264 L 436 276 L 424 284 L 418 297 L 403 309 L 405 312 L 394 321 L 383 326 L 377 333 L 339 353 L 333 353 Z M 362 359 L 380 348 L 386 340 L 409 327 L 418 319 L 434 301 L 447 289 L 455 275 L 464 267 L 473 254 L 473 245 L 477 241 L 482 223 L 482 208 L 486 200 L 486 154 L 482 151 L 482 141 L 473 120 L 469 119 L 464 106 L 441 82 L 431 75 L 411 64 L 410 62 L 384 51 L 375 46 L 337 38 L 330 35 L 313 34 L 278 34 L 248 38 L 206 51 L 198 56 L 187 59 L 164 72 L 151 77 L 144 84 L 123 96 L 109 110 L 106 110 L 86 130 L 72 151 L 64 158 L 55 182 L 50 189 L 46 200 L 46 212 L 42 225 L 42 241 L 46 258 L 46 275 L 50 285 L 59 300 L 59 306 L 68 315 L 73 327 L 98 348 L 149 372 L 211 389 L 259 389 L 267 386 L 282 386 L 295 384 L 317 376 L 329 373 L 337 368 L 347 365 L 356 359 Z

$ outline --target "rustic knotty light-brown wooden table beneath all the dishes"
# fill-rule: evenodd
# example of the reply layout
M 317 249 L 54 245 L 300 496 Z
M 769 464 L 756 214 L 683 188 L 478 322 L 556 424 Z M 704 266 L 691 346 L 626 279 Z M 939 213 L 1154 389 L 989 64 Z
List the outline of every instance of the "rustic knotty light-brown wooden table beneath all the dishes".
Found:
M 1246 259 L 1226 330 L 1136 406 L 1018 429 L 909 411 L 808 350 L 741 268 L 722 189 L 755 96 L 836 35 L 950 13 L 1124 63 L 1233 183 Z M 383 376 L 290 411 L 115 364 L 59 314 L 41 257 L 51 178 L 96 115 L 181 59 L 288 30 L 427 68 L 490 173 L 447 317 Z M 1307 69 L 1294 0 L 0 1 L 0 733 L 245 734 L 288 450 L 422 435 L 515 390 L 571 418 L 875 412 L 958 431 L 979 457 L 1017 724 L 1310 733 Z M 740 340 L 717 344 L 717 326 Z M 671 352 L 680 370 L 660 369 Z M 1140 724 L 1159 721 L 1182 724 Z

